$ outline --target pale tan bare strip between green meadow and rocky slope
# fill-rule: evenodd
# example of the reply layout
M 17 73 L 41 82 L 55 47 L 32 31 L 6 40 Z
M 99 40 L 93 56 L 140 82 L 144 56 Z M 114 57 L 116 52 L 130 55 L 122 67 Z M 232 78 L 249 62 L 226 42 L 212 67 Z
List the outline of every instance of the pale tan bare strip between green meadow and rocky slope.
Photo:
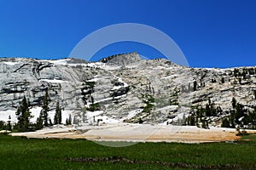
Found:
M 148 124 L 110 124 L 105 126 L 54 127 L 31 133 L 11 133 L 27 138 L 88 139 L 93 141 L 205 143 L 239 139 L 236 129 Z

